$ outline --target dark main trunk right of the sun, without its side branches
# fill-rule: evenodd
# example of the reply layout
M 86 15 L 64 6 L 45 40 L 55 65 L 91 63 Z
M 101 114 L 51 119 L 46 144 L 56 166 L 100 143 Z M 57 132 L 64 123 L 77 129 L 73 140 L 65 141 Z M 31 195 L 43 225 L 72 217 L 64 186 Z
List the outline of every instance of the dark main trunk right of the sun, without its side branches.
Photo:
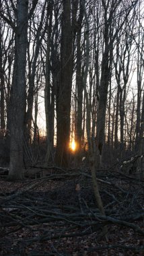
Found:
M 109 68 L 109 53 L 110 53 L 110 38 L 108 33 L 110 24 L 108 22 L 108 5 L 102 0 L 104 9 L 104 53 L 102 56 L 102 70 L 101 81 L 99 88 L 99 103 L 96 123 L 96 167 L 100 168 L 102 159 L 102 148 L 105 141 L 105 122 L 106 122 L 106 104 L 108 97 L 108 84 L 110 81 L 110 68 Z

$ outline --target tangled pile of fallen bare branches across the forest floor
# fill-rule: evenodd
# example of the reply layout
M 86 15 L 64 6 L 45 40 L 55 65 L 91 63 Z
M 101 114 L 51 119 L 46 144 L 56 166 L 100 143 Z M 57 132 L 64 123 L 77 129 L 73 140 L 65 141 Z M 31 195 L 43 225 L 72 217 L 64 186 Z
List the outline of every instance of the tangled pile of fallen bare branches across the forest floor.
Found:
M 81 177 L 86 177 L 89 183 L 87 187 L 81 186 Z M 98 243 L 100 239 L 102 240 L 102 228 L 105 225 L 108 226 L 109 232 L 114 227 L 122 227 L 133 230 L 135 236 L 144 237 L 141 224 L 144 217 L 143 183 L 121 172 L 99 172 L 98 183 L 106 211 L 106 216 L 102 216 L 96 205 L 90 181 L 89 172 L 83 170 L 57 172 L 55 169 L 46 177 L 15 183 L 15 187 L 10 189 L 7 187 L 6 192 L 1 191 L 2 249 L 7 239 L 9 245 L 13 244 L 13 255 L 22 255 L 30 247 L 35 254 L 30 251 L 27 254 L 37 255 L 36 247 L 42 243 L 49 241 L 53 245 L 52 241 L 92 236 L 92 234 Z M 77 184 L 80 184 L 79 189 L 75 190 Z M 7 185 L 12 186 L 12 183 Z M 107 245 L 107 247 L 105 245 L 107 249 L 112 249 L 114 246 L 118 247 L 118 245 Z M 126 250 L 130 247 L 136 251 L 144 250 L 143 245 L 122 246 Z M 97 245 L 97 249 L 100 248 L 98 249 Z M 87 251 L 92 252 L 93 249 Z M 53 248 L 51 254 L 46 255 L 59 255 L 59 253 Z

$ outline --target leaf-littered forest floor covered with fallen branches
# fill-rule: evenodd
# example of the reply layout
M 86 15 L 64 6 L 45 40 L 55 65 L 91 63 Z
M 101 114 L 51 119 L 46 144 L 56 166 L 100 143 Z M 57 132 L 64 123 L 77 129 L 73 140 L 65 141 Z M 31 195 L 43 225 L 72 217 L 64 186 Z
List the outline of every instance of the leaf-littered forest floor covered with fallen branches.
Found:
M 106 216 L 83 170 L 49 168 L 45 177 L 15 183 L 5 178 L 1 175 L 1 256 L 144 255 L 144 191 L 137 177 L 98 173 Z M 106 225 L 108 241 L 102 235 Z

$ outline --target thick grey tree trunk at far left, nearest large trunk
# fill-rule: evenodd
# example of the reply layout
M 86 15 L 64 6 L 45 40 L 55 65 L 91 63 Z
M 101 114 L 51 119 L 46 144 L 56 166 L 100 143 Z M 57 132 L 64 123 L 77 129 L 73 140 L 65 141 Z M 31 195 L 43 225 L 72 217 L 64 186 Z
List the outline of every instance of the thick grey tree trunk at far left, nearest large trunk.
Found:
M 11 98 L 11 147 L 9 180 L 23 178 L 24 110 L 26 104 L 26 49 L 28 44 L 28 1 L 17 0 L 15 69 Z

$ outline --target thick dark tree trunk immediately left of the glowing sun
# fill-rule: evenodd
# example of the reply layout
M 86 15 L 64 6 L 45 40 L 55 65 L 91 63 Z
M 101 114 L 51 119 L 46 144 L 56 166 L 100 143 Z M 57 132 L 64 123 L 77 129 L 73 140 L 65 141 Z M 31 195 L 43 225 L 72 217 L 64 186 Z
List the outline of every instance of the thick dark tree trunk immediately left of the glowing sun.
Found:
M 70 0 L 63 1 L 61 26 L 61 81 L 59 84 L 57 109 L 57 152 L 56 161 L 59 166 L 68 166 L 71 86 L 72 86 L 72 54 L 73 37 L 71 33 Z

